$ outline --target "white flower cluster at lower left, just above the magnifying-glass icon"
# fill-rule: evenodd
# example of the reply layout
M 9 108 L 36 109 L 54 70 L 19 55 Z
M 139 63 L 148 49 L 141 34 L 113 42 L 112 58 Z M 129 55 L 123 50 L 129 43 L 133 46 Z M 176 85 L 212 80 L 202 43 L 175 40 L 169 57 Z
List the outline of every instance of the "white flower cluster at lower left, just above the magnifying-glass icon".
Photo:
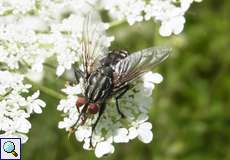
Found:
M 45 102 L 40 100 L 39 91 L 28 94 L 31 85 L 23 84 L 20 74 L 0 71 L 0 137 L 20 137 L 25 143 L 31 124 L 32 113 L 42 113 Z

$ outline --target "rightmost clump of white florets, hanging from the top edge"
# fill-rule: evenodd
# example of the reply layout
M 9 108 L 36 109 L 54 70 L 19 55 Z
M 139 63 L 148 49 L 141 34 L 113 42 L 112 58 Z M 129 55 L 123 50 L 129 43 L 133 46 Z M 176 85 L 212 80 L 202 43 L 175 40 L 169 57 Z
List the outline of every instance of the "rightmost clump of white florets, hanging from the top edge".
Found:
M 145 7 L 145 19 L 161 22 L 160 35 L 179 34 L 184 28 L 184 15 L 193 0 L 151 0 Z

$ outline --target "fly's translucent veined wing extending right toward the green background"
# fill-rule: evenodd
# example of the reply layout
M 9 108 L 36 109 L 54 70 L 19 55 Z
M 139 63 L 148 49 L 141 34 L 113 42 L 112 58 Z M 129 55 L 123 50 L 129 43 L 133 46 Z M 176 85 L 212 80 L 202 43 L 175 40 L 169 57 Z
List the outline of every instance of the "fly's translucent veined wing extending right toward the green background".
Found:
M 114 66 L 114 88 L 120 88 L 164 61 L 171 51 L 168 47 L 152 47 L 130 54 Z

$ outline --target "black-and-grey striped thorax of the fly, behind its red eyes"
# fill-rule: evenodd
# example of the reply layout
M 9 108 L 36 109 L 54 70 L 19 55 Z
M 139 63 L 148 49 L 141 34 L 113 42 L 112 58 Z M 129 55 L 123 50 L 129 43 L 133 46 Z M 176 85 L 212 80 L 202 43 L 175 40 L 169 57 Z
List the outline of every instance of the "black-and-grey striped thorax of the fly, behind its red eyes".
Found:
M 90 103 L 103 102 L 112 90 L 111 67 L 101 67 L 92 72 L 87 80 L 85 96 Z

